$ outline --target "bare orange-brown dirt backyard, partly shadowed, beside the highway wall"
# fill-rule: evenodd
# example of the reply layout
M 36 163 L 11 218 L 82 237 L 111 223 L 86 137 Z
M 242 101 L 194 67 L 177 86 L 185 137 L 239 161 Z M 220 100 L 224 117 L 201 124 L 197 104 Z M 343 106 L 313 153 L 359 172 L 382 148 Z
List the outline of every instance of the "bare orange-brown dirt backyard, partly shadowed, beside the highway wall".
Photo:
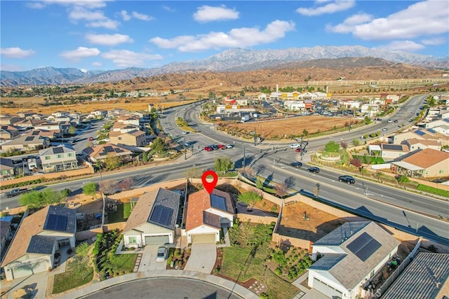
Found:
M 284 207 L 282 213 L 281 225 L 279 225 L 277 232 L 280 235 L 307 239 L 311 242 L 324 237 L 346 222 L 342 218 L 315 209 L 302 202 Z

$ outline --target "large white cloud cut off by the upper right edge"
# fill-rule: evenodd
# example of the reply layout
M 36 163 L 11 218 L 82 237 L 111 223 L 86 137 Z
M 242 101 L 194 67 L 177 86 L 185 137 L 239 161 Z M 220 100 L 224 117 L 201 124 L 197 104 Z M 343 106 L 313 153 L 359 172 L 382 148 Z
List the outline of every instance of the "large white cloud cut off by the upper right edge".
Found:
M 350 32 L 358 39 L 366 41 L 415 39 L 420 36 L 447 34 L 448 20 L 449 1 L 421 1 L 387 18 L 377 18 L 364 24 L 354 25 Z M 340 27 L 344 27 L 344 23 L 328 27 L 328 29 L 344 32 Z

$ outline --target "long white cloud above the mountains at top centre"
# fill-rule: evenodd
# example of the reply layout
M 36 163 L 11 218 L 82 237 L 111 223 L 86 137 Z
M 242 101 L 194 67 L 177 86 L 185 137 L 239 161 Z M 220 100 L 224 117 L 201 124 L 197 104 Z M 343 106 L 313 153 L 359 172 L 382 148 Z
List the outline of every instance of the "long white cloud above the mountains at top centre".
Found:
M 283 38 L 286 32 L 295 30 L 294 22 L 275 20 L 267 25 L 264 30 L 257 28 L 232 29 L 225 32 L 209 32 L 196 36 L 176 36 L 173 39 L 155 37 L 149 42 L 160 48 L 177 48 L 182 52 L 194 52 L 208 49 L 249 47 L 262 43 L 272 43 Z

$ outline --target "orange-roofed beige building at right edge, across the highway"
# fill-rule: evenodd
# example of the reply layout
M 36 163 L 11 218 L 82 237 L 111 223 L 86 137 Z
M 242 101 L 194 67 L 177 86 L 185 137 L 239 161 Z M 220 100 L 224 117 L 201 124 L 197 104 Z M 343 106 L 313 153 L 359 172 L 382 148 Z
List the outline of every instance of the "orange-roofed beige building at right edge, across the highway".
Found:
M 449 153 L 432 148 L 418 149 L 392 161 L 391 170 L 410 177 L 437 177 L 449 175 Z

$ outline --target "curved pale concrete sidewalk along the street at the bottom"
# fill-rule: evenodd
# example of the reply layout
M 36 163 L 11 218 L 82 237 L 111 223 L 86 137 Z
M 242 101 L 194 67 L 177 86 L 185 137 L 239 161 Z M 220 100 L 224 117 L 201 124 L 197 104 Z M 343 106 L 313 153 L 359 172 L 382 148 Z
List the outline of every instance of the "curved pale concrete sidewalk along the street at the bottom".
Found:
M 137 279 L 151 279 L 151 278 L 187 278 L 187 279 L 197 279 L 201 281 L 206 281 L 210 284 L 216 284 L 217 286 L 221 286 L 222 288 L 227 288 L 232 293 L 241 296 L 241 298 L 245 299 L 255 299 L 259 298 L 255 293 L 249 291 L 243 286 L 239 284 L 235 284 L 232 281 L 227 279 L 222 279 L 221 277 L 216 277 L 210 274 L 205 274 L 201 272 L 194 271 L 182 271 L 182 270 L 156 270 L 156 271 L 147 271 L 147 272 L 137 272 L 126 275 L 121 275 L 119 277 L 112 277 L 110 279 L 106 279 L 103 281 L 99 281 L 94 284 L 89 284 L 83 288 L 78 288 L 74 291 L 61 293 L 58 295 L 52 295 L 49 298 L 80 298 L 84 295 L 88 295 L 94 293 L 96 291 L 100 291 L 104 288 L 108 288 L 109 286 L 114 286 L 116 284 L 122 284 L 128 281 L 134 281 Z

